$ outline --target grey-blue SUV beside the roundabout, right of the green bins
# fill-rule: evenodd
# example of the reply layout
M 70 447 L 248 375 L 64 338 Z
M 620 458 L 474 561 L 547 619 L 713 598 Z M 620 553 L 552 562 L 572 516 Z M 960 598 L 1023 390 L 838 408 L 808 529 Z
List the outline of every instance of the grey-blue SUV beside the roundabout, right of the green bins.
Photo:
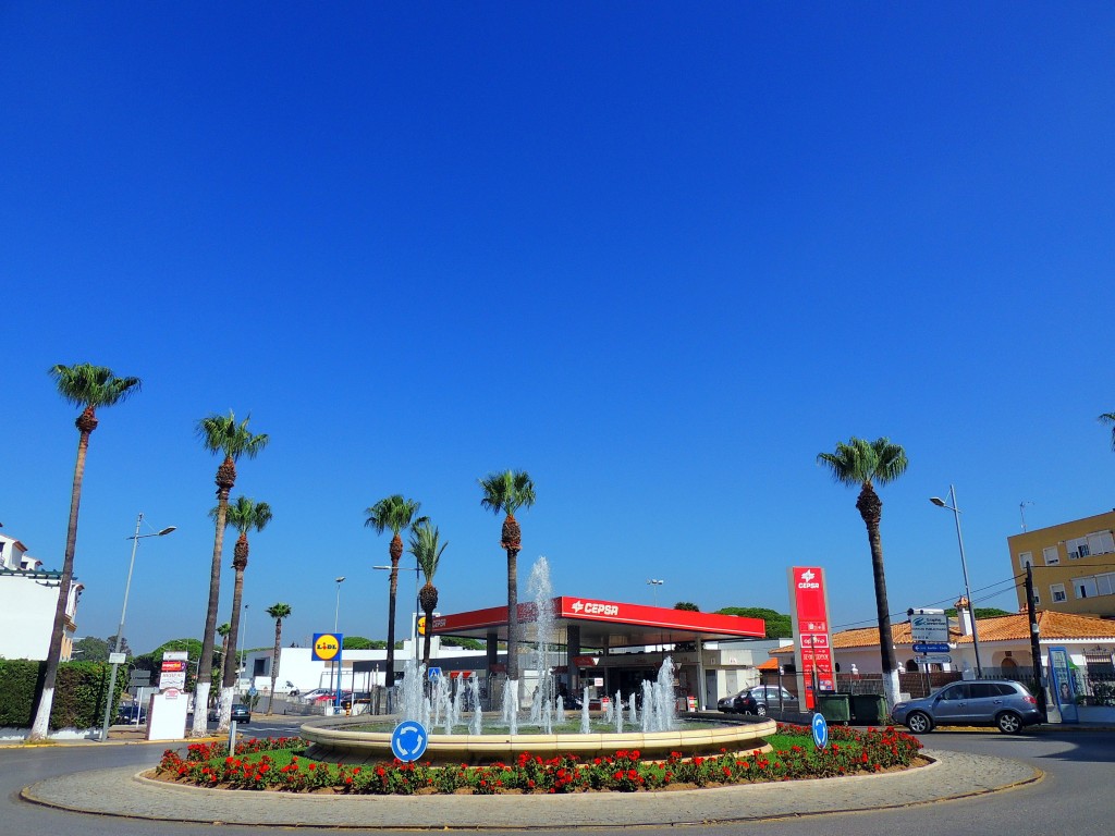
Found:
M 895 703 L 891 717 L 915 735 L 937 726 L 998 726 L 1005 735 L 1017 735 L 1045 719 L 1026 686 L 1009 679 L 952 682 L 929 697 Z

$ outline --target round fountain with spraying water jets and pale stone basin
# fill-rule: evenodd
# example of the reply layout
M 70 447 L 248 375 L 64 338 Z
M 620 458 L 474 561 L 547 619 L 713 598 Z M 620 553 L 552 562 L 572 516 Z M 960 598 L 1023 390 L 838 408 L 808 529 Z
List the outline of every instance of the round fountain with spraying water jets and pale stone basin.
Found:
M 665 758 L 675 751 L 685 755 L 717 755 L 723 749 L 769 750 L 764 738 L 774 733 L 776 726 L 773 720 L 729 725 L 680 723 L 673 696 L 673 661 L 669 657 L 659 668 L 657 679 L 642 683 L 641 711 L 634 692 L 627 696 L 624 704 L 623 694 L 617 691 L 600 717 L 599 722 L 603 725 L 593 730 L 589 689 L 585 688 L 579 731 L 555 733 L 555 717 L 559 725 L 564 723 L 565 710 L 564 700 L 556 693 L 551 667 L 551 644 L 555 643 L 551 606 L 553 590 L 545 557 L 540 557 L 535 563 L 527 589 L 534 597 L 537 613 L 533 660 L 537 688 L 531 700 L 529 716 L 520 717 L 518 681 L 506 681 L 498 719 L 492 716 L 488 729 L 485 730 L 479 681 L 475 673 L 469 677 L 467 684 L 458 680 L 455 693 L 453 682 L 447 677 L 439 678 L 432 683 L 430 696 L 427 697 L 424 692 L 426 667 L 415 659 L 408 659 L 400 688 L 403 699 L 398 719 L 417 720 L 429 730 L 424 760 L 437 764 L 491 764 L 514 760 L 518 754 L 526 751 L 543 757 L 569 754 L 590 758 L 611 755 L 621 749 L 639 749 L 644 758 Z M 472 702 L 472 717 L 467 726 L 462 718 L 465 690 Z M 624 715 L 628 717 L 624 718 Z M 630 725 L 630 731 L 624 730 L 626 720 Z M 349 764 L 390 760 L 390 732 L 359 728 L 367 723 L 367 717 L 332 717 L 303 725 L 302 737 L 311 741 L 307 756 Z M 524 730 L 522 733 L 521 726 Z M 459 733 L 458 728 L 466 733 Z

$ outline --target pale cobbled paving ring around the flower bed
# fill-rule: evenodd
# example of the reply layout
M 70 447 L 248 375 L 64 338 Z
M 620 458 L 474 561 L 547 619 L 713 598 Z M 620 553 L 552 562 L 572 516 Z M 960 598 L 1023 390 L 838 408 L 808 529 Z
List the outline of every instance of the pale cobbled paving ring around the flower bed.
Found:
M 1038 781 L 1017 760 L 923 750 L 920 769 L 826 780 L 662 793 L 563 796 L 334 796 L 198 789 L 153 781 L 134 767 L 33 784 L 22 797 L 78 813 L 142 819 L 330 828 L 630 827 L 878 810 L 968 798 Z

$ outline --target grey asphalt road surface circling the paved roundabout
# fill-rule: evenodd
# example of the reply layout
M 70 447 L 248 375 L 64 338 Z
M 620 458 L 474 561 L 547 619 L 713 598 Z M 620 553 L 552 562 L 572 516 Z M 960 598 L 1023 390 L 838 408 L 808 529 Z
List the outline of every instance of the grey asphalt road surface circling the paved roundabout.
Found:
M 251 733 L 291 733 L 298 721 L 253 723 Z M 1045 780 L 1020 789 L 980 798 L 948 801 L 881 813 L 803 817 L 764 823 L 704 826 L 702 834 L 737 834 L 762 829 L 773 834 L 830 834 L 854 832 L 856 836 L 913 836 L 995 833 L 1009 836 L 1070 834 L 1092 836 L 1115 832 L 1115 732 L 1041 732 L 1007 737 L 998 733 L 931 733 L 927 745 L 971 754 L 997 755 L 1025 760 L 1046 772 Z M 50 834 L 50 836 L 194 836 L 212 834 L 205 825 L 157 824 L 144 820 L 85 816 L 47 809 L 21 801 L 20 788 L 43 778 L 84 769 L 135 766 L 158 760 L 162 748 L 153 746 L 80 746 L 58 748 L 0 748 L 0 830 Z M 786 785 L 793 793 L 793 785 Z M 638 796 L 631 797 L 638 804 Z M 273 833 L 274 828 L 237 827 L 240 832 Z M 658 833 L 655 828 L 650 829 Z M 662 828 L 666 830 L 677 828 Z M 560 822 L 553 833 L 568 832 Z M 360 832 L 356 832 L 360 833 Z M 382 830 L 376 833 L 382 834 Z M 497 832 L 493 832 L 497 833 Z

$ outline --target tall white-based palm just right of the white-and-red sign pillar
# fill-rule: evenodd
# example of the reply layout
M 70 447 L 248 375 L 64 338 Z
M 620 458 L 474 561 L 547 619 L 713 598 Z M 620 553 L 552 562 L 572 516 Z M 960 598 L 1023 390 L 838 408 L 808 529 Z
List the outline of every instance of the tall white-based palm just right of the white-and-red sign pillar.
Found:
M 191 733 L 200 737 L 206 731 L 206 708 L 213 680 L 213 640 L 216 632 L 216 610 L 221 601 L 221 554 L 224 550 L 224 526 L 229 512 L 229 494 L 236 484 L 236 463 L 242 456 L 255 458 L 270 440 L 266 435 L 248 429 L 251 416 L 236 422 L 232 410 L 229 415 L 216 412 L 197 421 L 197 438 L 213 454 L 224 454 L 216 468 L 216 533 L 213 537 L 213 563 L 210 567 L 210 599 L 205 611 L 205 631 L 202 633 L 202 658 L 197 662 L 197 687 L 194 689 L 194 725 Z M 232 645 L 235 648 L 235 645 Z

